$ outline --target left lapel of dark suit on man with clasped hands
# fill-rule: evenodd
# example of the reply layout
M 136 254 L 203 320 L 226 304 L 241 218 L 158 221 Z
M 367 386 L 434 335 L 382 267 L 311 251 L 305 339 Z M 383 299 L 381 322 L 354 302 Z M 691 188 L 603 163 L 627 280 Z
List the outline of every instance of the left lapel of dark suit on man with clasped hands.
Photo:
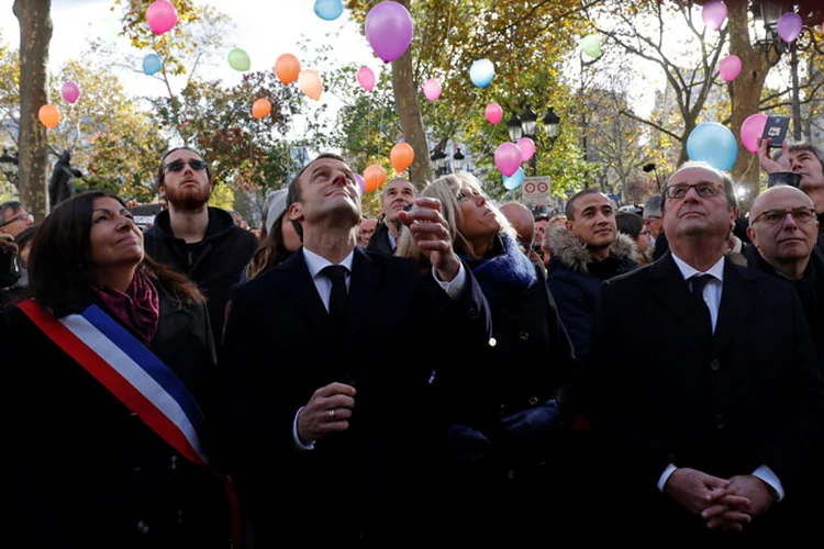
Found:
M 704 346 L 709 346 L 711 333 L 706 328 L 703 312 L 697 306 L 687 282 L 683 280 L 680 269 L 672 259 L 672 254 L 667 254 L 653 264 L 649 271 L 652 292 L 672 315 L 683 324 Z M 726 291 L 726 289 L 725 289 Z

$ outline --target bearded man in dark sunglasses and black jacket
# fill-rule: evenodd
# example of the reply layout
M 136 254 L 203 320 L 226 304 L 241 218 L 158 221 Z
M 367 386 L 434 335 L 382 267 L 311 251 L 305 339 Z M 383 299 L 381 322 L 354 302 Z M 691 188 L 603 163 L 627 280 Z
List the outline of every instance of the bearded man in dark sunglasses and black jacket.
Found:
M 207 296 L 212 334 L 223 334 L 226 302 L 241 271 L 257 247 L 250 232 L 235 225 L 229 212 L 209 208 L 213 182 L 209 166 L 189 147 L 172 148 L 160 159 L 157 190 L 168 210 L 146 232 L 146 253 L 188 274 Z

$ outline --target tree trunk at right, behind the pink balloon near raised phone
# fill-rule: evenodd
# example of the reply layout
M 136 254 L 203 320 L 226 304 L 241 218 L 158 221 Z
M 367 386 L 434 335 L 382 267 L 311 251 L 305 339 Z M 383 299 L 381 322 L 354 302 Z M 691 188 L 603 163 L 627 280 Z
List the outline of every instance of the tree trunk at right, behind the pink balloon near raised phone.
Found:
M 727 21 L 730 25 L 730 54 L 737 55 L 742 61 L 738 78 L 730 83 L 730 98 L 733 107 L 732 132 L 738 141 L 738 156 L 733 165 L 732 175 L 748 190 L 741 200 L 743 211 L 758 194 L 758 157 L 747 150 L 741 142 L 741 126 L 747 116 L 758 112 L 761 89 L 769 72 L 769 65 L 762 52 L 753 48 L 747 31 L 747 1 L 727 0 Z M 751 164 L 750 164 L 751 163 Z

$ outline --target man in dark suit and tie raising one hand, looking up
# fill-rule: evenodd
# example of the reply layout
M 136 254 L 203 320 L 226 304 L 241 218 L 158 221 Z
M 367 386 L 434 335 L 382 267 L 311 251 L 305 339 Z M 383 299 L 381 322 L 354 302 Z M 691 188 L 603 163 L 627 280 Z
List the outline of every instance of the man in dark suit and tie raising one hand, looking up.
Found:
M 430 255 L 423 274 L 356 248 L 360 194 L 342 158 L 304 167 L 288 202 L 303 248 L 235 290 L 221 359 L 256 547 L 409 540 L 426 520 L 427 383 L 447 360 L 430 345 L 489 345 L 487 303 L 437 200 L 400 213 Z

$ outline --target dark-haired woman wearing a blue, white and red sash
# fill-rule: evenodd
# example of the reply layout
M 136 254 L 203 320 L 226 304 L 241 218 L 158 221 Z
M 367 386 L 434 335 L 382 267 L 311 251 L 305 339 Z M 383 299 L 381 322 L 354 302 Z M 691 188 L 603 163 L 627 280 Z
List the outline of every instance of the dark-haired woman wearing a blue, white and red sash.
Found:
M 30 299 L 0 333 L 0 459 L 20 546 L 231 547 L 197 287 L 145 257 L 125 204 L 104 192 L 46 217 L 29 276 Z

